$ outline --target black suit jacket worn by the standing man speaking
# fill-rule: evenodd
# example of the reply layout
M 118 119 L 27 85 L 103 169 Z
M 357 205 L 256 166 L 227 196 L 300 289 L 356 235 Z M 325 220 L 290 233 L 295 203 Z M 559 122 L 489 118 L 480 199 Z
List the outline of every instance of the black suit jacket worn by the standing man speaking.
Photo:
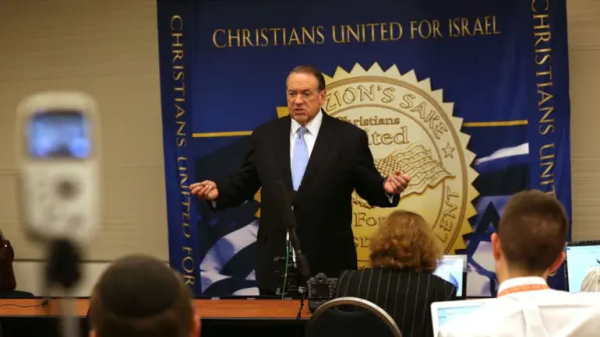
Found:
M 285 256 L 286 228 L 278 209 L 276 182 L 291 195 L 297 234 L 313 275 L 336 277 L 356 269 L 352 235 L 351 196 L 354 189 L 373 206 L 393 207 L 383 188 L 384 178 L 373 163 L 367 134 L 360 128 L 323 112 L 323 121 L 306 172 L 293 192 L 290 162 L 291 118 L 283 117 L 258 127 L 251 149 L 240 170 L 217 181 L 216 209 L 238 206 L 261 190 L 261 219 L 255 268 L 259 289 L 269 292 L 281 286 L 274 258 Z

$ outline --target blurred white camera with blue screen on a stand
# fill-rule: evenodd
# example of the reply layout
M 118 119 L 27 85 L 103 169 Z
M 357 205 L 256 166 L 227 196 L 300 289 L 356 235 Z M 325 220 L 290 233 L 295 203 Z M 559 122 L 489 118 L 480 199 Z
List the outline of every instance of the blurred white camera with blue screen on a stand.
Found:
M 96 102 L 80 92 L 45 92 L 17 108 L 19 209 L 29 237 L 48 251 L 46 287 L 68 297 L 81 278 L 80 249 L 100 219 Z M 79 336 L 74 303 L 61 300 L 66 336 Z

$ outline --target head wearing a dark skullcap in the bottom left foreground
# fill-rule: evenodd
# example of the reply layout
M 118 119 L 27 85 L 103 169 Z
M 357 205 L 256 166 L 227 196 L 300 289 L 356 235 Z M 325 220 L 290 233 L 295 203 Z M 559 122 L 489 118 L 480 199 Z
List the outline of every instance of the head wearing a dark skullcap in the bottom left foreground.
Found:
M 163 262 L 129 256 L 102 275 L 90 300 L 91 337 L 198 336 L 190 292 Z

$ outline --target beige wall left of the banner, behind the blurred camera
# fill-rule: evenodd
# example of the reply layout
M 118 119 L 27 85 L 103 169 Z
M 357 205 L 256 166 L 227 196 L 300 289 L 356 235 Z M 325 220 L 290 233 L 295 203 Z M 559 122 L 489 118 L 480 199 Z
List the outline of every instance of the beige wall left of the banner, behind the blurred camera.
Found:
M 0 2 L 0 228 L 19 259 L 44 251 L 18 225 L 14 109 L 48 89 L 87 91 L 101 109 L 104 221 L 86 258 L 166 260 L 155 1 Z

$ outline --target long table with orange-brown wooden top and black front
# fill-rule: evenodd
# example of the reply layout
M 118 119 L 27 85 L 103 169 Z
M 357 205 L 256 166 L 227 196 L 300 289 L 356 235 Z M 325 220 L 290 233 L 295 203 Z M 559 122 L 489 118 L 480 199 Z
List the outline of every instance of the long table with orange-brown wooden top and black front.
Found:
M 89 299 L 76 298 L 73 301 L 75 314 L 81 321 L 82 336 L 86 336 Z M 300 301 L 293 299 L 195 299 L 193 304 L 202 319 L 204 337 L 242 334 L 245 337 L 302 336 L 310 317 L 305 301 L 300 319 L 297 319 Z M 0 324 L 5 330 L 5 337 L 7 329 L 16 329 L 15 333 L 19 334 L 29 335 L 34 330 L 36 336 L 60 336 L 60 315 L 59 299 L 0 299 Z

